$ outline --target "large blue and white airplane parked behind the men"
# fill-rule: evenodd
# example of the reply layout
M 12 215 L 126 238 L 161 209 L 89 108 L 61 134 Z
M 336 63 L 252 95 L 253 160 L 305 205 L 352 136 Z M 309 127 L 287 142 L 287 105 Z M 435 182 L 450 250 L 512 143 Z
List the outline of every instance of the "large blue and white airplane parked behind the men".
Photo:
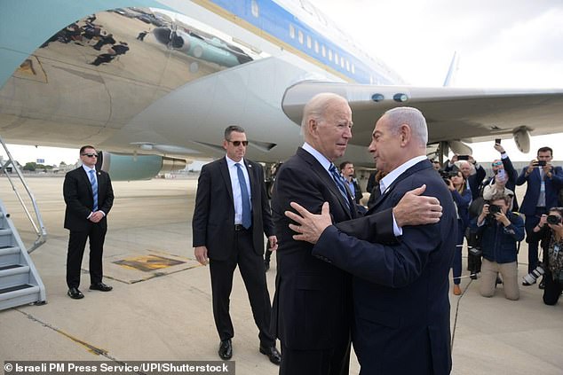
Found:
M 563 90 L 409 86 L 306 0 L 2 2 L 0 61 L 0 136 L 95 145 L 115 180 L 222 157 L 232 124 L 250 159 L 285 160 L 303 143 L 303 106 L 324 91 L 348 99 L 345 158 L 363 167 L 375 121 L 395 106 L 424 113 L 441 155 L 506 137 L 527 152 L 563 115 Z

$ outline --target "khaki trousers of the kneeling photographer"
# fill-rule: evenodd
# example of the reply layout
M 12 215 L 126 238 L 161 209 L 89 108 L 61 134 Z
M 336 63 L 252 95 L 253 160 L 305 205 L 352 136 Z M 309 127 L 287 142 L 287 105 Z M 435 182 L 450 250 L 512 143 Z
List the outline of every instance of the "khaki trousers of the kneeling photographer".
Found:
M 504 296 L 508 300 L 518 300 L 520 297 L 518 285 L 518 263 L 490 262 L 483 258 L 481 270 L 480 293 L 483 297 L 492 297 L 495 294 L 496 277 L 498 273 L 503 277 Z

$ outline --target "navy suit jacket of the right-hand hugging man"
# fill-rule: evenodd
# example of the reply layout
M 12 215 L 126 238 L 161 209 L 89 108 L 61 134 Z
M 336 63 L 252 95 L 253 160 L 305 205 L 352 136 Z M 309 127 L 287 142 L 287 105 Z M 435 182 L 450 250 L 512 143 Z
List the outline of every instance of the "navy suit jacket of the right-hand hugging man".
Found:
M 371 216 L 426 184 L 440 199 L 440 223 L 405 226 L 396 240 L 371 235 Z M 362 374 L 448 374 L 451 370 L 449 268 L 456 208 L 428 160 L 400 175 L 367 217 L 323 231 L 313 254 L 353 274 L 354 349 Z M 369 241 L 377 240 L 379 243 Z

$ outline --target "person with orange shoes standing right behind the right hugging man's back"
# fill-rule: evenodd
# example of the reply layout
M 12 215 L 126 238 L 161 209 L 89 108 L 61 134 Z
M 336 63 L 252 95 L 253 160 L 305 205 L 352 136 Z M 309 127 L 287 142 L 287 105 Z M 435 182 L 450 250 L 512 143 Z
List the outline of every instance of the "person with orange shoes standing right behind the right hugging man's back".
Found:
M 472 201 L 472 193 L 465 185 L 464 175 L 457 168 L 450 172 L 443 172 L 441 175 L 448 185 L 454 203 L 456 203 L 457 241 L 452 269 L 454 274 L 454 294 L 460 295 L 462 293 L 459 287 L 462 276 L 462 247 L 464 246 L 465 229 L 469 225 L 469 204 Z

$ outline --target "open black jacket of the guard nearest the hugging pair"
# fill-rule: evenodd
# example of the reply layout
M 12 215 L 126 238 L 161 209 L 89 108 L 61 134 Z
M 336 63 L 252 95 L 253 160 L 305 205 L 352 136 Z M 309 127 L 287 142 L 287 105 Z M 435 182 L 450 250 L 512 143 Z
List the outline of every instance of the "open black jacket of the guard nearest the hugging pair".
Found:
M 252 199 L 252 242 L 256 254 L 264 254 L 264 234 L 274 235 L 274 225 L 264 183 L 264 171 L 258 163 L 244 159 L 250 178 Z M 225 261 L 234 251 L 234 201 L 226 158 L 202 167 L 197 182 L 193 243 L 207 246 L 208 257 Z

